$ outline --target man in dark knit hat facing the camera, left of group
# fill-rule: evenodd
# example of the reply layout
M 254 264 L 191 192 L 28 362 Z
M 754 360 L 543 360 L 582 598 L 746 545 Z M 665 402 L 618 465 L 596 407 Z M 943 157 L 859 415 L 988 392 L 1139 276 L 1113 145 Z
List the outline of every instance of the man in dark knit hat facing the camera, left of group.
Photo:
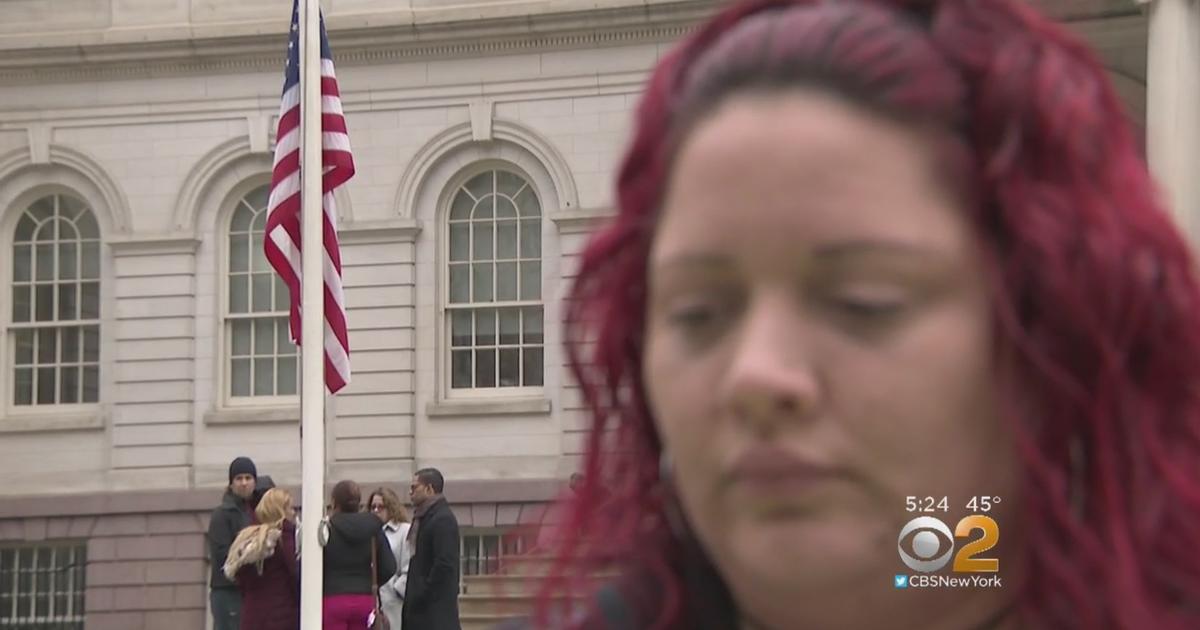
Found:
M 212 630 L 238 630 L 241 617 L 241 593 L 226 578 L 222 568 L 229 546 L 238 532 L 251 524 L 254 514 L 254 485 L 258 469 L 250 457 L 238 457 L 229 463 L 229 486 L 221 505 L 209 520 L 209 559 L 212 563 L 209 604 L 212 608 Z

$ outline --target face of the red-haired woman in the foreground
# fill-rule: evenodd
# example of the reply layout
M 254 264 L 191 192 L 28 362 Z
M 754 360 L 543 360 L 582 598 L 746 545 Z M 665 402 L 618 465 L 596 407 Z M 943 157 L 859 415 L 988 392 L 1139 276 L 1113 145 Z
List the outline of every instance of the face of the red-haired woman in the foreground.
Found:
M 973 496 L 1016 503 L 982 266 L 935 157 L 931 132 L 799 90 L 727 101 L 676 156 L 649 404 L 691 527 L 773 625 L 934 628 L 926 606 L 966 623 L 1002 593 L 893 586 L 907 497 L 947 497 L 950 529 Z

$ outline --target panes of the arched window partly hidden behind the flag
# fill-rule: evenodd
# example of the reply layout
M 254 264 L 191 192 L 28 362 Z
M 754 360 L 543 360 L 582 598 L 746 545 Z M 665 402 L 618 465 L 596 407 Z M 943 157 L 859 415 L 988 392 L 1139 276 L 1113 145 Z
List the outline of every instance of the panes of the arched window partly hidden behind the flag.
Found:
M 242 197 L 229 218 L 224 295 L 227 400 L 296 395 L 298 354 L 288 337 L 288 289 L 263 254 L 269 186 Z

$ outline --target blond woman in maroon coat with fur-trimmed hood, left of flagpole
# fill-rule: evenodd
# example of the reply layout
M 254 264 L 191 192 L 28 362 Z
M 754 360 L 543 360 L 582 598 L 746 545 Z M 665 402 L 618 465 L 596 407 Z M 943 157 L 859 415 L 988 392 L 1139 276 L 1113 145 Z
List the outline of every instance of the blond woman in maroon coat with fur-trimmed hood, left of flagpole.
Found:
M 300 566 L 295 508 L 280 488 L 263 494 L 257 524 L 234 539 L 224 575 L 241 590 L 241 630 L 299 630 Z

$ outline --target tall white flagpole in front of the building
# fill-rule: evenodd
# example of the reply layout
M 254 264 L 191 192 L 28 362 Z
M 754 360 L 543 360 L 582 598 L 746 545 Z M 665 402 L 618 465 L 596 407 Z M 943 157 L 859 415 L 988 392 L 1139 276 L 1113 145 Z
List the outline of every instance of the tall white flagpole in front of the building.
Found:
M 319 528 L 325 516 L 325 374 L 324 275 L 320 137 L 320 2 L 301 1 L 302 55 L 300 86 L 302 160 L 300 172 L 301 247 L 301 401 L 300 462 L 302 490 L 302 562 L 300 564 L 300 629 L 320 630 L 324 550 Z

